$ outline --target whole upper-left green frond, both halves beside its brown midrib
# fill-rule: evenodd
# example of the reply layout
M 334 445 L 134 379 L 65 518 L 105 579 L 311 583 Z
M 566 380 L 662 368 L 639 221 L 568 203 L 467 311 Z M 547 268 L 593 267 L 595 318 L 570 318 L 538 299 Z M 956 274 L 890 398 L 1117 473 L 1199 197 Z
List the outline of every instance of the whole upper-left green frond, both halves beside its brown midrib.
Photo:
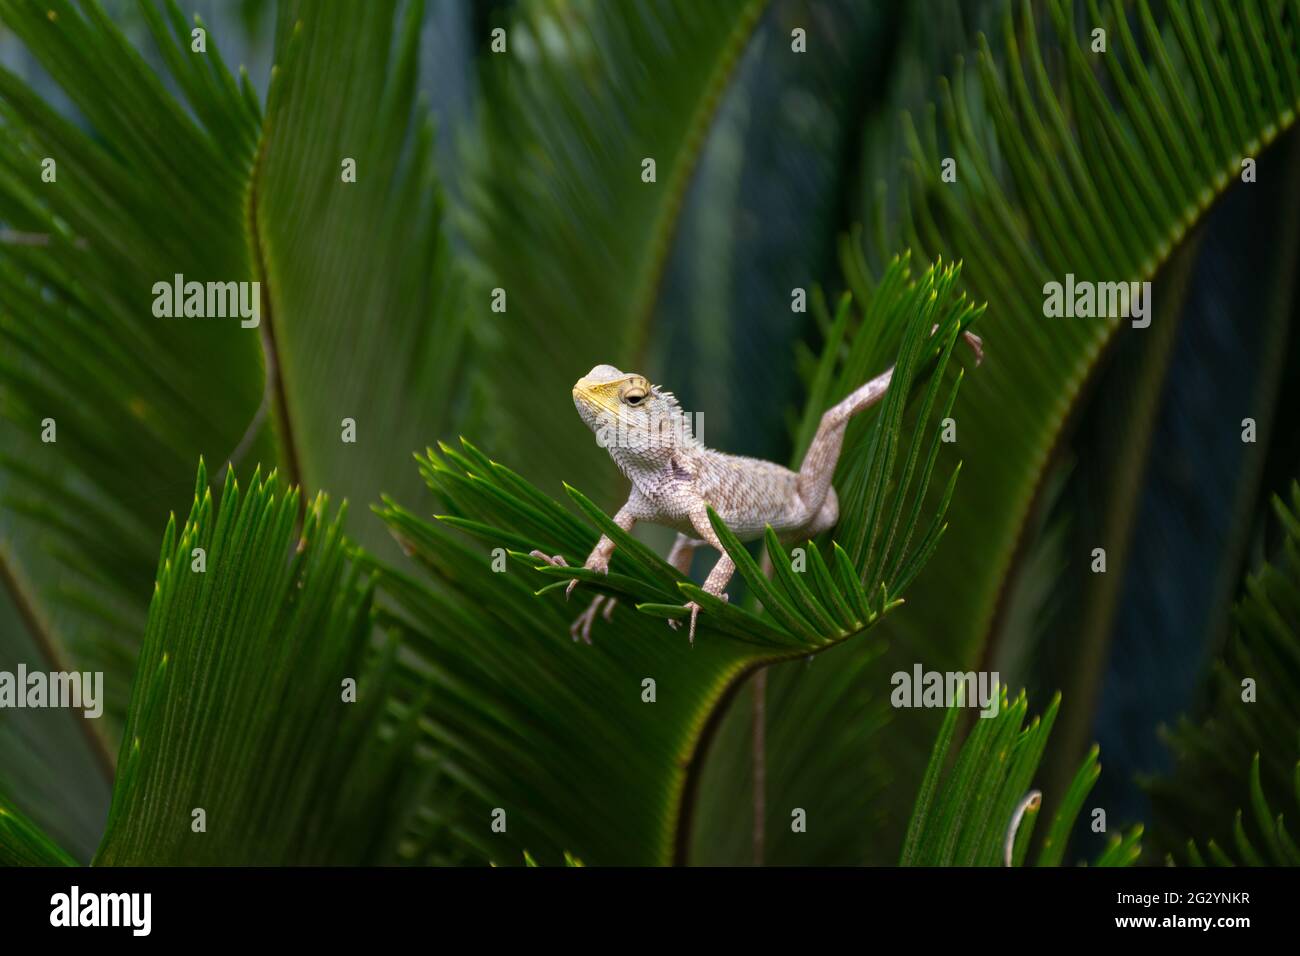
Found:
M 360 501 L 415 498 L 407 455 L 447 427 L 464 358 L 415 101 L 422 4 L 281 4 L 265 113 L 216 36 L 195 53 L 172 0 L 139 8 L 165 75 L 92 0 L 0 3 L 82 117 L 0 70 L 0 221 L 26 237 L 0 246 L 0 580 L 47 667 L 104 671 L 108 730 L 92 739 L 110 741 L 156 532 L 183 506 L 194 462 L 280 466 Z M 53 182 L 43 157 L 57 161 Z M 155 316 L 153 286 L 176 274 L 260 282 L 260 325 Z M 40 440 L 46 420 L 55 442 Z M 356 537 L 391 548 L 363 518 Z M 27 643 L 0 633 L 0 658 Z M 38 784 L 9 783 L 48 829 Z

